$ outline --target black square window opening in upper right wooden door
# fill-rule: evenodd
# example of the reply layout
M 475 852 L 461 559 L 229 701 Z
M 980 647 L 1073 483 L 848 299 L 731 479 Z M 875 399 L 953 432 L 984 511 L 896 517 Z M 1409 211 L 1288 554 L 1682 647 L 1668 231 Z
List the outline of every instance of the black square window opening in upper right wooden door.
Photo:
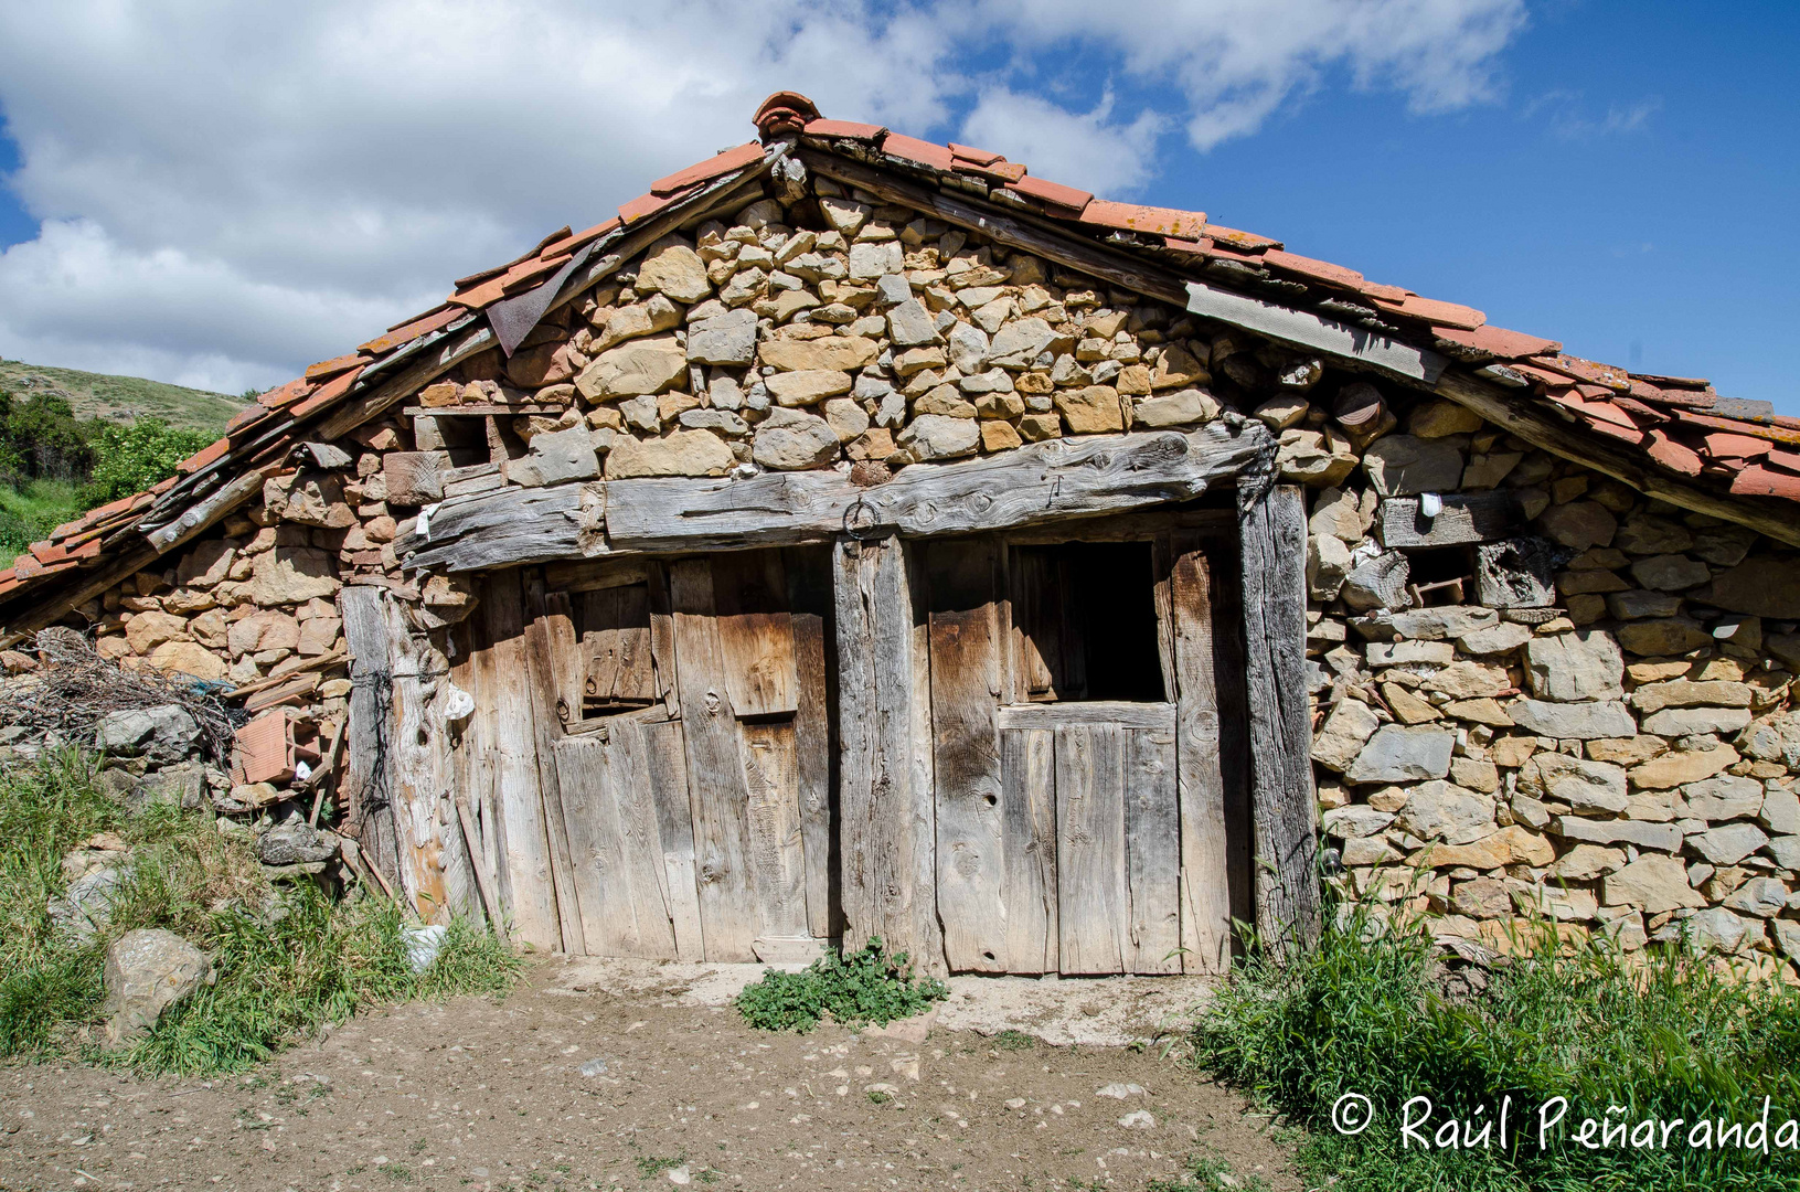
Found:
M 1168 699 L 1148 542 L 1015 547 L 1012 589 L 1021 700 Z

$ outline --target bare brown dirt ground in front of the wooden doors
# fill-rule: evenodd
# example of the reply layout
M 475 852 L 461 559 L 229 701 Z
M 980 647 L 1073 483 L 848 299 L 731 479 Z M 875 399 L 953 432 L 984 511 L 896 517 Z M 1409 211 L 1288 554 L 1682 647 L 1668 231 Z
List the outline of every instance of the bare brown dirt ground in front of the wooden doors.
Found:
M 725 1005 L 754 974 L 549 960 L 241 1077 L 0 1068 L 0 1188 L 1143 1188 L 1192 1154 L 1300 1187 L 1240 1098 L 1116 1046 L 1192 989 L 958 978 L 927 1019 L 778 1035 Z

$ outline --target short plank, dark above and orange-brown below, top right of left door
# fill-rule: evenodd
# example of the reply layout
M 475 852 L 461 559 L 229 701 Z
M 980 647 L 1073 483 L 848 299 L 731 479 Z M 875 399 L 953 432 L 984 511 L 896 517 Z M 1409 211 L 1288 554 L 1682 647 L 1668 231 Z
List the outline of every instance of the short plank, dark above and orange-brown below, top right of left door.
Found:
M 794 711 L 799 679 L 781 551 L 713 558 L 713 600 L 731 709 L 738 717 Z

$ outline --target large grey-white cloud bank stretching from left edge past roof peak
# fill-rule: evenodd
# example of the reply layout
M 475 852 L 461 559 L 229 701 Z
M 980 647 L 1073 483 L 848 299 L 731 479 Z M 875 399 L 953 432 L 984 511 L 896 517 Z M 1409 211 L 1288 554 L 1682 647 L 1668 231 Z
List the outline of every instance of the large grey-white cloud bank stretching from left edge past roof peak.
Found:
M 1341 67 L 1418 110 L 1480 101 L 1521 0 L 63 0 L 0 5 L 0 353 L 236 391 L 434 304 L 448 281 L 749 139 L 796 86 L 1125 194 L 1165 130 L 1253 131 Z M 1159 112 L 1051 101 L 1080 43 Z M 1004 70 L 976 61 L 1012 56 Z M 1048 72 L 1046 72 L 1048 74 Z M 961 119 L 959 119 L 961 117 Z

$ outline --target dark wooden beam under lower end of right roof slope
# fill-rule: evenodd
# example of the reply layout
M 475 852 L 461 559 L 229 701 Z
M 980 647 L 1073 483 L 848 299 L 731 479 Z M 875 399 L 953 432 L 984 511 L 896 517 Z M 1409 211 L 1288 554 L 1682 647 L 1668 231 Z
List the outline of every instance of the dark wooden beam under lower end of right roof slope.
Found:
M 1451 371 L 1440 376 L 1436 393 L 1440 398 L 1449 398 L 1474 411 L 1501 430 L 1519 436 L 1532 447 L 1611 475 L 1640 493 L 1678 504 L 1683 510 L 1748 526 L 1787 546 L 1800 546 L 1800 517 L 1795 517 L 1791 501 L 1769 499 L 1764 504 L 1751 497 L 1706 492 L 1661 470 L 1636 447 L 1607 439 L 1598 432 L 1582 432 L 1537 407 L 1534 400 L 1465 373 Z

